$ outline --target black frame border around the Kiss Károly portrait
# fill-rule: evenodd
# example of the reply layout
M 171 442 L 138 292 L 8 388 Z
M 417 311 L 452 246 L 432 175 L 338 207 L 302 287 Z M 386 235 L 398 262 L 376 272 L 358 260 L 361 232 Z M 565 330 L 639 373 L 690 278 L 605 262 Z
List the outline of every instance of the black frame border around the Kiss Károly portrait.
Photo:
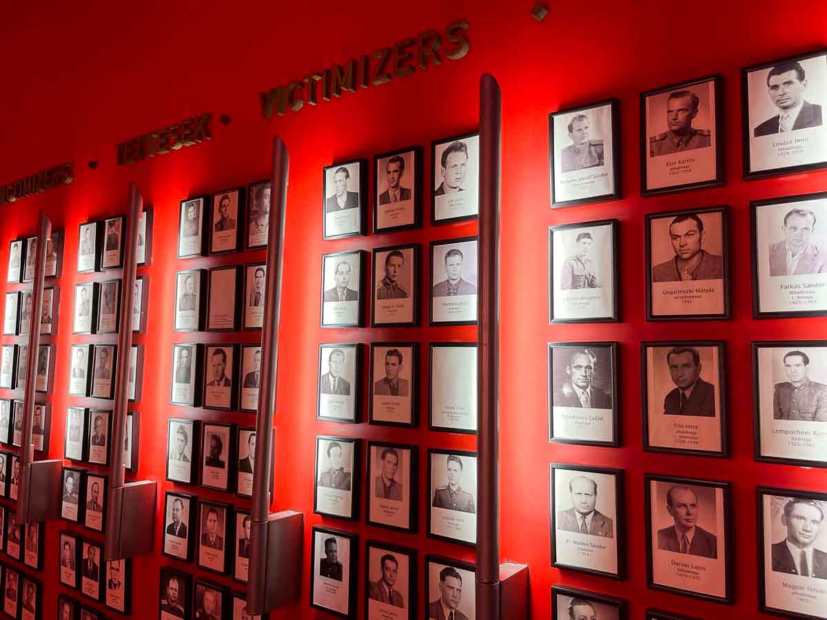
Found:
M 715 178 L 693 183 L 668 185 L 666 187 L 648 189 L 648 175 L 647 175 L 647 160 L 649 150 L 649 136 L 647 117 L 646 117 L 646 100 L 649 97 L 666 93 L 667 91 L 685 90 L 686 88 L 696 86 L 701 83 L 713 84 L 715 88 L 714 101 L 710 102 L 715 106 Z M 683 82 L 672 83 L 668 86 L 660 88 L 653 88 L 651 90 L 640 93 L 640 194 L 643 198 L 650 198 L 658 196 L 663 193 L 680 192 L 686 189 L 700 189 L 700 188 L 716 188 L 724 184 L 724 136 L 723 136 L 723 122 L 724 117 L 724 79 L 721 74 L 705 75 L 697 79 L 689 79 Z M 710 141 L 711 142 L 711 141 Z M 711 145 L 711 144 L 710 144 Z M 680 153 L 688 151 L 679 151 Z

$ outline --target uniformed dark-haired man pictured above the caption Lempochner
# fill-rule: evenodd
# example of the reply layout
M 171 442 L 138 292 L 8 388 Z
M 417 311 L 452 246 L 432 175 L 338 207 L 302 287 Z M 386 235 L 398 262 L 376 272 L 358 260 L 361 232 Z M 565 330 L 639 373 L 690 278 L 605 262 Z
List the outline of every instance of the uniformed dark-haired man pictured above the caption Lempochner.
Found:
M 784 373 L 789 381 L 775 384 L 772 417 L 776 420 L 827 422 L 827 385 L 811 381 L 810 357 L 804 351 L 784 355 Z

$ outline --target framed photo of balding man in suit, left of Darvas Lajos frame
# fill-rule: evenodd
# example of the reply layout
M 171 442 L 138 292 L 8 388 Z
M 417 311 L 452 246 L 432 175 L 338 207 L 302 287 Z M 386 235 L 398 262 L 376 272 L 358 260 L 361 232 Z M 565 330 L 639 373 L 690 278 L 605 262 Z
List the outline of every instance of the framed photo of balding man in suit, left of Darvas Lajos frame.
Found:
M 623 470 L 552 463 L 552 566 L 626 578 Z

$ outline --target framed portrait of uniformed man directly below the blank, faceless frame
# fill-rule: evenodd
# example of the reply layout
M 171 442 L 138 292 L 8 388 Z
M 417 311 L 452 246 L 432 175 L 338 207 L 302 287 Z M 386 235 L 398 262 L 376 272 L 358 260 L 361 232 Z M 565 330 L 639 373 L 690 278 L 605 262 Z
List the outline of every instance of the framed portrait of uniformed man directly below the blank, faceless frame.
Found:
M 476 452 L 428 448 L 428 536 L 476 546 Z

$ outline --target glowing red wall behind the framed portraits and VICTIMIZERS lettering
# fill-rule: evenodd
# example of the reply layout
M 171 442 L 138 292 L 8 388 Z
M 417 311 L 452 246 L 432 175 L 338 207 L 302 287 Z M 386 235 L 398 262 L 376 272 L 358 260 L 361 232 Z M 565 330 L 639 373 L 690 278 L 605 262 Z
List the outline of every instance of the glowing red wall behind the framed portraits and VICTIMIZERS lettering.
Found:
M 759 614 L 756 575 L 754 486 L 758 483 L 825 489 L 825 470 L 753 462 L 752 395 L 749 341 L 823 336 L 824 319 L 756 321 L 752 318 L 749 274 L 748 201 L 827 188 L 827 173 L 799 174 L 746 183 L 741 179 L 739 68 L 825 45 L 827 6 L 798 2 L 794 10 L 776 2 L 695 2 L 667 7 L 661 2 L 552 3 L 543 22 L 529 13 L 531 2 L 308 3 L 285 9 L 260 2 L 241 10 L 226 2 L 145 3 L 123 10 L 110 3 L 74 7 L 42 3 L 37 12 L 24 5 L 2 9 L 3 93 L 0 102 L 0 182 L 73 160 L 74 184 L 0 207 L 0 265 L 8 244 L 35 233 L 37 212 L 45 210 L 64 228 L 65 267 L 60 279 L 60 336 L 53 404 L 51 457 L 62 456 L 64 413 L 81 399 L 67 396 L 69 345 L 101 341 L 103 336 L 71 336 L 70 308 L 75 282 L 103 279 L 76 274 L 74 259 L 81 222 L 126 210 L 127 184 L 135 182 L 155 209 L 152 265 L 139 269 L 151 277 L 147 332 L 136 336 L 146 346 L 144 393 L 134 407 L 141 416 L 141 458 L 137 478 L 164 480 L 166 418 L 195 415 L 251 423 L 251 414 L 188 411 L 168 404 L 170 348 L 176 341 L 251 342 L 257 333 L 179 334 L 172 331 L 174 272 L 212 265 L 262 260 L 263 252 L 176 260 L 178 202 L 189 195 L 245 185 L 269 173 L 270 140 L 280 135 L 291 154 L 284 302 L 280 340 L 280 392 L 276 424 L 275 501 L 273 508 L 304 511 L 303 593 L 294 609 L 275 618 L 327 618 L 307 605 L 309 532 L 314 524 L 342 527 L 360 537 L 390 535 L 361 522 L 313 515 L 313 446 L 317 434 L 364 440 L 418 443 L 419 478 L 426 476 L 428 446 L 472 450 L 473 437 L 428 432 L 427 383 L 421 385 L 420 428 L 416 430 L 318 422 L 315 419 L 319 342 L 418 340 L 427 377 L 428 342 L 473 340 L 474 327 L 323 330 L 318 327 L 319 271 L 323 252 L 422 243 L 425 257 L 420 292 L 427 291 L 428 241 L 476 232 L 476 223 L 431 227 L 344 241 L 322 241 L 319 208 L 320 169 L 335 160 L 430 141 L 476 126 L 478 82 L 487 71 L 503 91 L 501 427 L 502 553 L 531 570 L 532 617 L 550 615 L 550 586 L 568 584 L 614 594 L 630 602 L 630 618 L 643 618 L 654 605 L 691 610 L 704 618 L 766 617 Z M 458 18 L 469 21 L 471 51 L 466 58 L 394 79 L 381 87 L 345 93 L 341 100 L 305 106 L 295 114 L 265 122 L 258 92 L 300 78 L 430 28 L 442 30 Z M 640 198 L 638 169 L 638 93 L 681 79 L 724 75 L 723 188 Z M 609 97 L 620 100 L 621 155 L 625 198 L 567 208 L 548 208 L 547 113 Z M 227 113 L 232 124 L 213 122 L 213 141 L 136 165 L 114 165 L 117 142 L 203 112 Z M 89 160 L 100 165 L 91 170 Z M 429 174 L 426 174 L 426 183 Z M 371 175 L 372 183 L 372 175 Z M 426 201 L 427 203 L 427 201 Z M 734 318 L 716 322 L 645 321 L 643 289 L 643 214 L 682 207 L 726 203 L 732 207 L 731 255 L 734 260 Z M 617 217 L 621 221 L 622 322 L 576 327 L 547 323 L 547 227 L 552 224 Z M 428 221 L 428 216 L 424 217 Z M 2 288 L 2 287 L 0 287 Z M 6 289 L 12 287 L 6 286 Z M 426 297 L 427 299 L 427 297 Z M 428 323 L 427 303 L 422 322 Z M 727 384 L 731 456 L 727 460 L 643 453 L 641 448 L 639 341 L 703 336 L 727 341 Z M 3 336 L 4 342 L 14 341 Z M 616 340 L 619 348 L 622 446 L 617 449 L 547 443 L 547 341 Z M 367 379 L 363 377 L 363 387 Z M 8 394 L 0 394 L 8 396 Z M 626 470 L 629 579 L 617 582 L 571 571 L 553 570 L 549 554 L 548 463 L 580 462 Z M 643 524 L 643 473 L 691 474 L 734 482 L 735 607 L 696 602 L 646 587 Z M 203 498 L 224 499 L 204 489 Z M 426 496 L 420 489 L 419 522 L 426 522 Z M 237 505 L 246 502 L 233 499 Z M 363 500 L 362 500 L 363 501 Z M 364 517 L 364 506 L 360 511 Z M 160 513 L 159 513 L 160 514 Z M 160 546 L 160 517 L 156 546 Z M 47 527 L 45 617 L 53 617 L 58 586 L 57 536 L 62 523 Z M 70 529 L 95 538 L 82 527 Z M 394 534 L 394 541 L 423 554 L 436 552 L 463 560 L 473 553 L 461 546 L 428 539 L 420 532 Z M 3 559 L 5 560 L 5 558 Z M 158 567 L 171 560 L 156 551 L 136 559 L 134 615 L 155 615 Z M 179 565 L 211 578 L 194 565 Z M 363 565 L 359 570 L 359 609 L 363 614 Z M 421 568 L 418 575 L 421 594 Z M 222 579 L 230 584 L 229 579 Z M 421 613 L 421 611 L 420 611 Z

